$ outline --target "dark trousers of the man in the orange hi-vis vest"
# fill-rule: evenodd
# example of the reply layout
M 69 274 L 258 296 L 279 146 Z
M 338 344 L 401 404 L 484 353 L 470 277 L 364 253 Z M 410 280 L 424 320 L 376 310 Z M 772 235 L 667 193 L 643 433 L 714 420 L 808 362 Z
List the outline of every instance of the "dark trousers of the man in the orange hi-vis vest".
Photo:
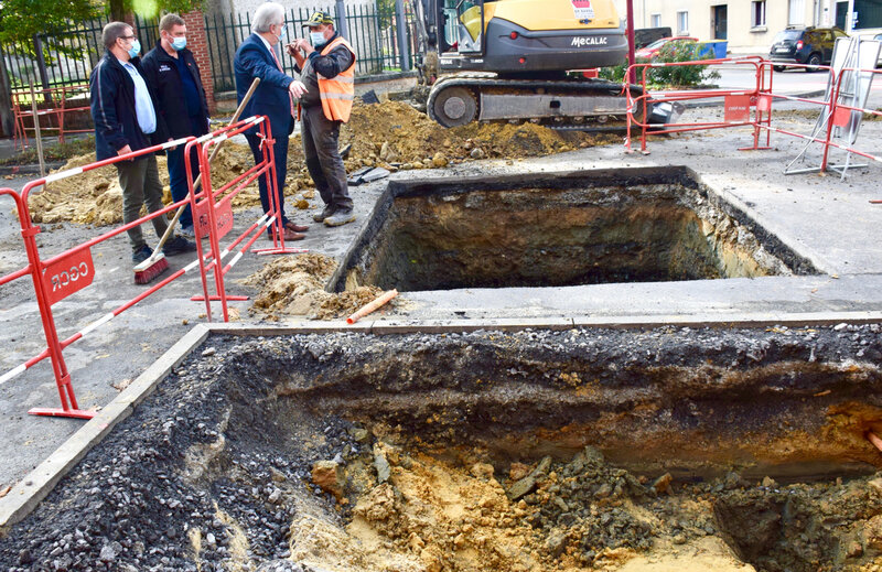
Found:
M 300 121 L 306 169 L 322 201 L 334 211 L 352 211 L 346 168 L 337 149 L 341 122 L 327 119 L 322 106 L 304 107 Z

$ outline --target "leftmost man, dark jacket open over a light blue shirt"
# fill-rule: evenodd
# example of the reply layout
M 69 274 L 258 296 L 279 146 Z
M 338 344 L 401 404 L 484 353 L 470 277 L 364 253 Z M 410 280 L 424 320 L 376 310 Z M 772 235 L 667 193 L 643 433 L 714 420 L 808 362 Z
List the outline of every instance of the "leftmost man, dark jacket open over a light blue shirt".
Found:
M 141 44 L 132 28 L 110 22 L 101 32 L 107 48 L 92 71 L 92 118 L 95 121 L 95 152 L 98 161 L 123 155 L 168 141 L 162 117 L 155 112 L 153 94 L 143 79 L 138 60 Z M 162 183 L 153 153 L 114 163 L 122 187 L 122 222 L 140 218 L 141 206 L 150 213 L 162 208 Z M 168 228 L 164 216 L 151 220 L 157 236 Z M 147 246 L 141 227 L 128 230 L 131 259 L 136 265 L 147 260 L 153 250 Z M 191 252 L 196 245 L 176 236 L 162 249 L 165 255 Z

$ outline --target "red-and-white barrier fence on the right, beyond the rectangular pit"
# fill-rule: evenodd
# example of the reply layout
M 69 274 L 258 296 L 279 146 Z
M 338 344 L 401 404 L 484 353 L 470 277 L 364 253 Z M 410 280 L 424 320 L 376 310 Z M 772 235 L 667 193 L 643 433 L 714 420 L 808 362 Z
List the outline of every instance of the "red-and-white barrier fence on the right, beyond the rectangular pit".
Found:
M 649 93 L 647 85 L 647 71 L 655 67 L 670 67 L 670 66 L 708 66 L 708 65 L 735 65 L 749 66 L 754 69 L 755 83 L 747 89 L 693 89 L 693 90 L 679 90 L 679 91 L 657 91 Z M 775 64 L 778 65 L 778 64 Z M 753 144 L 751 147 L 740 148 L 741 151 L 768 149 L 771 143 L 771 133 L 776 132 L 804 139 L 809 142 L 819 143 L 822 145 L 822 157 L 820 165 L 813 171 L 825 172 L 830 168 L 829 152 L 830 149 L 839 149 L 847 153 L 853 153 L 865 159 L 876 162 L 882 162 L 882 157 L 875 155 L 872 152 L 860 150 L 853 144 L 846 144 L 837 142 L 833 137 L 833 128 L 846 126 L 852 121 L 854 114 L 867 114 L 880 117 L 882 111 L 874 109 L 859 108 L 848 106 L 841 102 L 839 94 L 842 89 L 842 80 L 849 77 L 849 73 L 873 74 L 874 76 L 881 74 L 879 69 L 865 69 L 856 67 L 845 67 L 837 72 L 828 66 L 806 66 L 799 64 L 787 64 L 787 67 L 793 68 L 811 68 L 811 71 L 826 69 L 830 73 L 831 94 L 827 99 L 811 99 L 805 97 L 787 96 L 775 94 L 772 85 L 772 62 L 754 58 L 727 58 L 727 60 L 706 60 L 698 62 L 677 62 L 677 63 L 641 63 L 634 64 L 628 68 L 628 72 L 637 72 L 639 84 L 643 87 L 643 95 L 634 96 L 625 88 L 624 93 L 628 99 L 628 114 L 627 126 L 628 133 L 625 139 L 626 152 L 633 152 L 632 149 L 632 128 L 639 128 L 641 152 L 647 153 L 646 144 L 650 136 L 659 136 L 666 133 L 678 133 L 686 131 L 699 131 L 706 129 L 723 129 L 731 127 L 752 127 L 753 128 Z M 699 99 L 723 98 L 724 115 L 722 121 L 706 121 L 706 122 L 670 122 L 658 123 L 650 122 L 652 115 L 648 114 L 652 106 L 659 106 L 664 104 L 671 104 L 678 101 L 695 101 Z M 795 131 L 781 129 L 772 125 L 772 104 L 775 100 L 799 101 L 818 106 L 819 114 L 828 114 L 830 118 L 826 125 L 826 129 L 820 134 L 805 134 Z M 761 133 L 765 131 L 765 142 L 761 145 Z

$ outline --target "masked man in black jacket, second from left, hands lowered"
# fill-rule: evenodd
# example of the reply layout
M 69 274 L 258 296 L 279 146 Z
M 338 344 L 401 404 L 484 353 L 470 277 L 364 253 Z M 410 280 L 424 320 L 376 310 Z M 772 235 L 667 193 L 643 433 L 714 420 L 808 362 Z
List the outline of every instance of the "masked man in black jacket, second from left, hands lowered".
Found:
M 157 111 L 164 119 L 173 139 L 200 137 L 208 132 L 208 104 L 202 87 L 200 68 L 193 53 L 186 48 L 186 24 L 178 14 L 165 14 L 159 21 L 160 40 L 148 52 L 141 65 L 147 84 L 157 96 Z M 184 145 L 166 152 L 169 184 L 175 203 L 186 197 L 186 164 Z M 191 153 L 193 179 L 200 172 L 196 153 Z M 193 215 L 187 206 L 181 214 L 181 234 L 194 237 Z

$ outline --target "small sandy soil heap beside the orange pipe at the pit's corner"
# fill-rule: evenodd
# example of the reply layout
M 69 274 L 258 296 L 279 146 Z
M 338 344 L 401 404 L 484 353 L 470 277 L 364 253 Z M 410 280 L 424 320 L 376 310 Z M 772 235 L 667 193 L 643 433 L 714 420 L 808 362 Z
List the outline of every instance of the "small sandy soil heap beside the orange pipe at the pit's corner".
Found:
M 310 320 L 346 317 L 383 293 L 377 287 L 357 287 L 345 292 L 324 290 L 336 262 L 319 253 L 288 256 L 273 260 L 243 283 L 260 289 L 252 312 L 270 320 L 282 315 Z

